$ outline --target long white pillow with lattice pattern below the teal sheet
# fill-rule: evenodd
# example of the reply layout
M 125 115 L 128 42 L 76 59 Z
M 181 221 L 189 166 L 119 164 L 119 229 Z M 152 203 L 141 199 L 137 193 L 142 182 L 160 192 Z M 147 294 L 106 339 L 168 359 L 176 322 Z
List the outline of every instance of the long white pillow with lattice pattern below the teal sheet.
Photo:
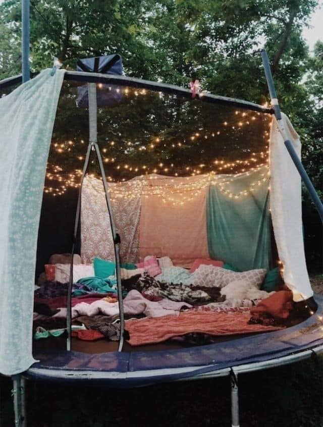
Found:
M 236 280 L 243 280 L 250 287 L 259 289 L 266 275 L 265 269 L 233 272 L 213 265 L 200 265 L 192 274 L 192 284 L 223 288 Z

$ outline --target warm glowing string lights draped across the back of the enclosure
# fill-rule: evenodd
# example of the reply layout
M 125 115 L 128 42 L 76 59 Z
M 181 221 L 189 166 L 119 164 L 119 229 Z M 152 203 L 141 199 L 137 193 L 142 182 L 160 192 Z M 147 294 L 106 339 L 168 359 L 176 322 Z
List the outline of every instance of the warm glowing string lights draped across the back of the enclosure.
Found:
M 109 90 L 112 90 L 110 87 Z M 139 95 L 145 95 L 147 91 L 145 89 L 132 89 L 132 88 L 122 88 L 120 89 L 122 93 L 124 93 L 126 96 L 130 94 L 134 94 L 135 96 Z M 111 197 L 118 198 L 118 197 L 131 197 L 131 196 L 149 196 L 149 195 L 156 195 L 158 197 L 162 197 L 163 200 L 173 201 L 174 203 L 177 203 L 178 201 L 175 200 L 174 194 L 175 193 L 181 193 L 181 201 L 179 203 L 185 202 L 187 200 L 191 200 L 193 197 L 199 194 L 199 192 L 205 188 L 207 185 L 217 185 L 219 190 L 227 195 L 230 198 L 239 198 L 242 196 L 246 196 L 252 191 L 255 191 L 256 187 L 261 185 L 261 183 L 268 180 L 268 141 L 269 141 L 269 132 L 265 130 L 263 132 L 263 139 L 265 142 L 265 149 L 260 152 L 249 152 L 249 157 L 244 159 L 235 159 L 232 161 L 226 161 L 224 158 L 217 157 L 217 158 L 209 158 L 207 161 L 205 161 L 205 155 L 204 155 L 204 162 L 199 163 L 197 165 L 183 165 L 177 164 L 174 162 L 175 158 L 178 158 L 179 161 L 181 161 L 181 154 L 171 154 L 173 155 L 173 160 L 168 161 L 165 159 L 165 154 L 163 154 L 163 161 L 162 162 L 156 162 L 155 165 L 151 164 L 142 164 L 142 165 L 135 165 L 132 164 L 133 162 L 133 154 L 138 152 L 138 154 L 141 152 L 142 154 L 147 151 L 156 151 L 156 154 L 160 154 L 164 152 L 165 148 L 167 147 L 168 151 L 171 152 L 173 149 L 187 149 L 187 148 L 193 148 L 195 151 L 197 148 L 194 147 L 200 147 L 200 144 L 202 141 L 204 144 L 211 144 L 211 143 L 217 143 L 217 141 L 209 141 L 210 138 L 218 138 L 219 142 L 223 139 L 223 136 L 228 136 L 228 130 L 230 132 L 231 129 L 234 130 L 234 132 L 237 132 L 241 128 L 245 126 L 251 125 L 253 121 L 257 119 L 257 117 L 260 116 L 260 113 L 254 113 L 254 112 L 241 112 L 241 111 L 235 111 L 234 113 L 234 123 L 230 124 L 228 121 L 224 121 L 223 123 L 219 124 L 219 130 L 212 130 L 208 131 L 207 129 L 202 129 L 201 127 L 198 129 L 198 132 L 193 132 L 190 136 L 187 136 L 186 138 L 182 138 L 181 141 L 174 141 L 174 137 L 171 137 L 170 139 L 167 138 L 165 135 L 158 135 L 158 136 L 151 136 L 150 140 L 146 141 L 146 145 L 143 145 L 140 140 L 136 141 L 120 141 L 116 143 L 116 141 L 107 141 L 107 145 L 105 147 L 101 148 L 102 153 L 102 161 L 104 164 L 109 164 L 109 172 L 111 175 L 108 175 L 106 177 L 107 181 L 111 184 Z M 263 118 L 264 115 L 261 115 L 261 118 Z M 267 120 L 267 119 L 264 119 Z M 265 123 L 264 123 L 265 124 Z M 223 128 L 223 129 L 221 129 Z M 261 137 L 261 136 L 260 136 Z M 261 140 L 261 139 L 260 139 Z M 84 140 L 81 140 L 81 143 L 84 144 Z M 52 144 L 51 149 L 54 150 L 58 154 L 64 155 L 64 153 L 70 155 L 73 152 L 73 149 L 77 145 L 76 141 L 65 141 L 64 143 L 55 142 Z M 123 146 L 125 146 L 124 152 Z M 262 145 L 263 146 L 263 145 Z M 201 147 L 202 149 L 202 147 Z M 107 153 L 110 153 L 110 155 L 106 155 Z M 184 151 L 183 151 L 184 152 Z M 202 152 L 202 151 L 201 151 Z M 70 154 L 69 154 L 70 153 Z M 112 155 L 111 155 L 112 154 Z M 125 163 L 118 162 L 119 156 L 124 157 L 124 155 L 128 155 L 128 161 Z M 80 166 L 82 166 L 82 163 L 84 162 L 84 155 L 76 155 L 75 156 L 76 161 L 80 162 Z M 166 157 L 167 158 L 167 157 Z M 207 157 L 206 157 L 207 158 Z M 92 162 L 93 163 L 93 162 Z M 245 174 L 245 176 L 250 175 L 254 171 L 258 171 L 261 168 L 264 168 L 266 170 L 264 173 L 260 174 L 260 179 L 256 180 L 255 182 L 249 184 L 246 186 L 245 189 L 239 191 L 239 192 L 233 192 L 230 188 L 231 183 L 233 182 L 235 177 L 241 176 L 241 174 Z M 114 174 L 114 171 L 115 174 Z M 121 176 L 120 176 L 121 174 Z M 129 181 L 129 178 L 124 178 L 122 176 L 126 176 L 129 178 L 135 178 L 131 179 Z M 144 174 L 144 175 L 142 175 Z M 167 176 L 167 179 L 170 179 L 171 176 L 175 177 L 182 177 L 185 176 L 191 176 L 198 178 L 196 182 L 193 184 L 190 183 L 189 185 L 184 185 L 182 182 L 181 184 L 166 184 L 165 182 L 163 185 L 159 186 L 160 188 L 154 188 L 154 186 L 149 186 L 149 188 L 146 188 L 147 186 L 141 186 L 136 184 L 138 177 L 140 177 L 139 181 L 145 182 L 147 178 L 149 179 L 155 179 L 154 176 L 151 174 L 163 174 Z M 72 173 L 64 173 L 62 168 L 56 165 L 48 164 L 47 166 L 47 172 L 46 172 L 46 185 L 44 188 L 44 191 L 46 193 L 50 193 L 52 195 L 62 195 L 64 194 L 69 187 L 77 188 L 79 187 L 79 181 L 80 176 L 82 175 L 81 169 L 75 169 Z M 119 179 L 116 178 L 114 175 L 119 176 Z M 132 175 L 132 176 L 131 176 Z M 223 178 L 225 177 L 225 178 Z M 233 177 L 233 178 L 232 178 Z M 160 177 L 157 177 L 160 179 Z M 131 182 L 131 190 L 126 190 L 123 184 Z M 171 180 L 172 181 L 172 180 Z M 115 188 L 115 184 L 118 185 Z M 166 184 L 166 185 L 165 185 Z M 172 195 L 173 194 L 173 195 Z M 173 200 L 174 199 L 174 200 Z

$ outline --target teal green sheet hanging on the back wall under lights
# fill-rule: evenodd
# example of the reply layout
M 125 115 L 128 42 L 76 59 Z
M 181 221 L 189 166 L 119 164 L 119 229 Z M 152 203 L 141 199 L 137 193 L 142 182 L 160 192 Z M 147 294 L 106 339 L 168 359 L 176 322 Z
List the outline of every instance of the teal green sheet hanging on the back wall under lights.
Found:
M 220 175 L 208 190 L 207 241 L 212 259 L 241 271 L 270 269 L 271 216 L 268 170 Z

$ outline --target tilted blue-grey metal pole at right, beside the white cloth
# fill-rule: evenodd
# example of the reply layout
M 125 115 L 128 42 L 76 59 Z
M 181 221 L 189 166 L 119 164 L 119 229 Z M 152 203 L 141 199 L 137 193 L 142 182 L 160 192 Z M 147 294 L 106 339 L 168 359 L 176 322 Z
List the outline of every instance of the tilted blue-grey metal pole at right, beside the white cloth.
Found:
M 267 52 L 263 49 L 261 50 L 261 58 L 262 58 L 262 64 L 263 64 L 263 68 L 264 68 L 264 73 L 266 76 L 266 80 L 267 80 L 267 85 L 268 85 L 268 90 L 271 96 L 271 100 L 272 100 L 272 105 L 274 108 L 274 112 L 275 112 L 275 117 L 277 119 L 277 124 L 278 124 L 278 128 L 280 130 L 280 133 L 284 139 L 284 144 L 289 152 L 289 155 L 292 158 L 292 161 L 296 167 L 296 169 L 298 170 L 303 183 L 316 207 L 316 210 L 318 211 L 318 215 L 323 223 L 323 204 L 322 201 L 320 200 L 320 198 L 318 197 L 318 194 L 311 182 L 311 180 L 309 179 L 304 166 L 302 165 L 302 162 L 300 161 L 300 158 L 298 157 L 291 141 L 288 139 L 286 131 L 284 129 L 284 125 L 283 125 L 283 121 L 282 121 L 282 114 L 281 114 L 281 110 L 280 110 L 280 106 L 278 103 L 278 99 L 277 99 L 277 94 L 276 94 L 276 90 L 275 90 L 275 85 L 274 85 L 274 79 L 273 79 L 273 75 L 271 72 L 271 68 L 269 65 L 269 60 L 268 60 L 268 55 Z

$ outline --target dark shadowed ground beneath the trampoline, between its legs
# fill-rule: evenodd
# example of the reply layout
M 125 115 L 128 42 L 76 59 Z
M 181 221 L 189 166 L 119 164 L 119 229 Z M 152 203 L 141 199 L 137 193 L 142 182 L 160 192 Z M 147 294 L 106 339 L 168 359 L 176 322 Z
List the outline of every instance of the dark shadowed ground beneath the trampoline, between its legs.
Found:
M 323 294 L 323 276 L 314 276 Z M 241 427 L 323 427 L 323 358 L 239 376 Z M 27 383 L 28 427 L 228 427 L 228 378 L 132 390 Z M 13 423 L 11 380 L 0 378 L 0 425 Z

